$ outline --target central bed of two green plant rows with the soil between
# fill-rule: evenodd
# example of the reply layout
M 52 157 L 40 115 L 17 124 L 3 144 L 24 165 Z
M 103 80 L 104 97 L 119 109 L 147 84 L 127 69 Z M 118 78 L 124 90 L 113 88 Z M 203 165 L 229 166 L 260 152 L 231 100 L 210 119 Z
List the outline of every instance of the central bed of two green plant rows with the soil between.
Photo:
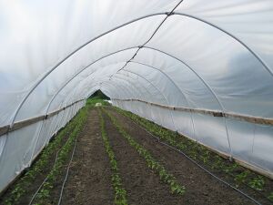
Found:
M 178 204 L 183 200 L 185 187 L 153 156 L 130 136 L 124 128 L 103 108 L 101 116 L 102 138 L 112 170 L 118 173 L 117 187 L 112 178 L 115 204 Z M 105 130 L 106 129 L 106 130 Z M 118 168 L 117 168 L 118 167 Z M 121 189 L 123 188 L 123 189 Z M 122 190 L 124 198 L 116 201 L 116 190 Z M 126 200 L 125 200 L 126 199 Z

